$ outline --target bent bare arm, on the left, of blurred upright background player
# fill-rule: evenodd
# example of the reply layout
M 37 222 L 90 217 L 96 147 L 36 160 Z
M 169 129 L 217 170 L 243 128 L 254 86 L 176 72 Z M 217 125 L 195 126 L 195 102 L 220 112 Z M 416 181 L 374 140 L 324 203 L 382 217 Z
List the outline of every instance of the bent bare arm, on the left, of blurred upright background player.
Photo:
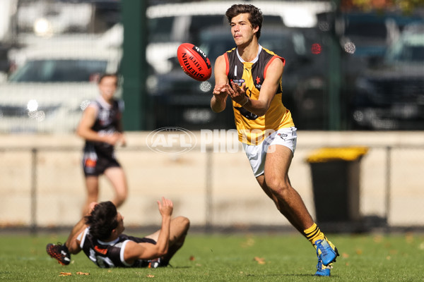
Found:
M 113 135 L 99 135 L 97 132 L 92 130 L 95 123 L 95 118 L 97 116 L 97 109 L 92 106 L 88 106 L 83 113 L 83 117 L 76 129 L 76 134 L 83 137 L 85 140 L 96 141 L 96 142 L 106 142 L 110 145 L 115 145 L 117 141 L 122 137 L 121 133 Z

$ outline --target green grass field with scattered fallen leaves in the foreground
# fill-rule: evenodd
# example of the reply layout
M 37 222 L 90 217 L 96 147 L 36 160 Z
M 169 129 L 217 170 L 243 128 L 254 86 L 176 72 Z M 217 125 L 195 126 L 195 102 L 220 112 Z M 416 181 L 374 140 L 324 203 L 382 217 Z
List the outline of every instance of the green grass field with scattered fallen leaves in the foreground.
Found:
M 189 235 L 161 269 L 99 269 L 82 252 L 61 266 L 45 245 L 65 237 L 0 235 L 0 281 L 424 281 L 423 234 L 330 235 L 340 257 L 329 278 L 312 276 L 314 249 L 295 234 Z

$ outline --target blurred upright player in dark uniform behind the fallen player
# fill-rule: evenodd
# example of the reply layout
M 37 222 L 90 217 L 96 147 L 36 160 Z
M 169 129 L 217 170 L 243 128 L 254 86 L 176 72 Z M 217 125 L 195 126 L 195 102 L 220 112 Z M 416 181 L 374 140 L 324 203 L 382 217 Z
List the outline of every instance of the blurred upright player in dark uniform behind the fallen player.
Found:
M 119 207 L 128 195 L 124 170 L 114 155 L 114 146 L 126 145 L 122 130 L 123 102 L 114 99 L 118 76 L 104 74 L 98 88 L 100 96 L 90 102 L 83 113 L 76 133 L 86 140 L 83 149 L 83 171 L 86 178 L 87 200 L 83 214 L 88 212 L 91 202 L 98 202 L 99 176 L 105 174 L 114 188 L 112 202 Z

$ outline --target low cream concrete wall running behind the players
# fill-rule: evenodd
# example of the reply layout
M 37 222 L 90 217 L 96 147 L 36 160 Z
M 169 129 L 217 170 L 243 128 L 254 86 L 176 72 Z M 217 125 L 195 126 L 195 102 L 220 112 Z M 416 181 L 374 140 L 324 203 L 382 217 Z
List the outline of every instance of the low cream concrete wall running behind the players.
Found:
M 192 151 L 160 154 L 146 146 L 148 134 L 127 133 L 128 146 L 117 149 L 129 182 L 129 198 L 120 209 L 126 225 L 158 224 L 156 200 L 161 196 L 172 199 L 175 215 L 188 216 L 193 225 L 289 225 L 261 191 L 234 136 L 227 135 L 220 143 L 226 146 L 223 152 L 213 152 L 213 145 L 209 144 L 206 147 L 212 151 L 206 153 L 201 152 L 204 135 L 194 132 L 198 142 Z M 40 226 L 75 223 L 85 200 L 82 140 L 74 135 L 2 135 L 0 138 L 0 226 L 28 226 L 34 221 Z M 420 226 L 424 224 L 423 140 L 423 132 L 299 131 L 290 180 L 314 216 L 307 156 L 319 147 L 369 146 L 360 166 L 360 214 L 384 216 L 386 147 L 392 146 L 389 224 Z M 214 144 L 219 142 L 215 141 Z M 32 171 L 33 147 L 38 148 L 35 172 Z M 36 195 L 35 202 L 32 192 Z M 100 201 L 112 198 L 112 189 L 105 178 L 100 183 L 100 194 Z

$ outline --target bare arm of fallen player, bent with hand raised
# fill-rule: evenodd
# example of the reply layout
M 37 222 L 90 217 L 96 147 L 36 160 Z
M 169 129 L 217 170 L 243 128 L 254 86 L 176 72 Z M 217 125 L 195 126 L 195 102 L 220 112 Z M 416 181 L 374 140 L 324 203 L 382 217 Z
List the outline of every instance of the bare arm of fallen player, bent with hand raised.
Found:
M 159 212 L 162 216 L 162 227 L 155 245 L 149 243 L 126 243 L 124 251 L 125 262 L 132 264 L 136 259 L 154 259 L 166 255 L 170 243 L 170 223 L 173 204 L 164 197 L 158 201 Z

